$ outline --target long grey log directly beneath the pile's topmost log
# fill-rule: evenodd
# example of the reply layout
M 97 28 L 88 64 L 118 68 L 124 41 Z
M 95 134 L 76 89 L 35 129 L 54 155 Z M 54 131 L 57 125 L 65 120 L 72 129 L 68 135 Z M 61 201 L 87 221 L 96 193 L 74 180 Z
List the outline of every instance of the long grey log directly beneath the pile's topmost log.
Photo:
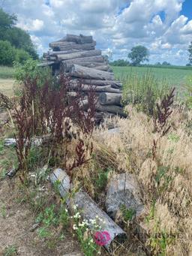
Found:
M 56 51 L 68 51 L 68 50 L 95 50 L 96 42 L 93 41 L 91 44 L 76 44 L 74 42 L 58 41 L 49 44 L 52 50 Z

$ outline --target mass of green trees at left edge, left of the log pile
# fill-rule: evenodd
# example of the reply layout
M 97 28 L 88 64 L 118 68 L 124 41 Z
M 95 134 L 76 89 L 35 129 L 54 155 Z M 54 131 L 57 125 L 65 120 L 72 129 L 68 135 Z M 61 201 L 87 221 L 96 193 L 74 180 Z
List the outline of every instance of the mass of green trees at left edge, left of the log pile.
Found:
M 0 65 L 23 63 L 27 59 L 38 59 L 31 37 L 23 29 L 17 28 L 17 15 L 7 14 L 0 9 Z

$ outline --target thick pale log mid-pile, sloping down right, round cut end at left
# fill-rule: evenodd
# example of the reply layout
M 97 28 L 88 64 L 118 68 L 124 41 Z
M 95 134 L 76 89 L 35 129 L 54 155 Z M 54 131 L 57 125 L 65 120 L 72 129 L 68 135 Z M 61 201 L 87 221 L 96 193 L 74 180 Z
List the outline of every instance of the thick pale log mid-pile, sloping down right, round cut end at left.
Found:
M 80 65 L 72 65 L 69 71 L 71 77 L 83 79 L 114 80 L 114 74 L 107 71 L 98 71 L 94 68 L 86 68 Z

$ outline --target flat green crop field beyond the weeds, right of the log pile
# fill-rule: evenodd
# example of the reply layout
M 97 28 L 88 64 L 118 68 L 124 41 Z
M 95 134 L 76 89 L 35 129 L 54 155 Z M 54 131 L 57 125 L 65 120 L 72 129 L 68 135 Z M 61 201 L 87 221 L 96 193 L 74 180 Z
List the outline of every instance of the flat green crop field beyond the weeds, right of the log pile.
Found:
M 143 76 L 150 72 L 158 80 L 166 79 L 170 86 L 182 86 L 187 81 L 187 77 L 192 77 L 192 68 L 147 68 L 147 67 L 113 67 L 113 72 L 117 80 L 124 80 L 130 74 Z

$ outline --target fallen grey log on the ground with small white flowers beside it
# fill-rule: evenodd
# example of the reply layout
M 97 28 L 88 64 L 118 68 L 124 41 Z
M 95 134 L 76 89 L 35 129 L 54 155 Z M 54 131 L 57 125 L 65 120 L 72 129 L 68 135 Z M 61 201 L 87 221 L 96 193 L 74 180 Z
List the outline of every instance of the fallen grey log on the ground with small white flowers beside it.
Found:
M 65 170 L 56 169 L 50 175 L 50 181 L 54 185 L 55 182 L 58 184 L 58 191 L 62 197 L 67 197 L 71 188 L 70 179 Z M 95 227 L 92 224 L 91 219 L 96 219 L 98 215 L 98 224 L 101 225 L 101 232 L 107 231 L 110 234 L 110 240 L 107 242 L 105 247 L 107 249 L 110 248 L 110 243 L 113 239 L 121 239 L 123 240 L 126 237 L 124 230 L 121 227 L 118 227 L 117 224 L 104 212 L 100 209 L 84 191 L 78 191 L 74 194 L 74 197 L 71 200 L 67 200 L 68 206 L 77 205 L 77 208 L 80 209 L 80 215 L 82 218 L 88 221 L 88 226 L 90 229 L 94 229 Z

